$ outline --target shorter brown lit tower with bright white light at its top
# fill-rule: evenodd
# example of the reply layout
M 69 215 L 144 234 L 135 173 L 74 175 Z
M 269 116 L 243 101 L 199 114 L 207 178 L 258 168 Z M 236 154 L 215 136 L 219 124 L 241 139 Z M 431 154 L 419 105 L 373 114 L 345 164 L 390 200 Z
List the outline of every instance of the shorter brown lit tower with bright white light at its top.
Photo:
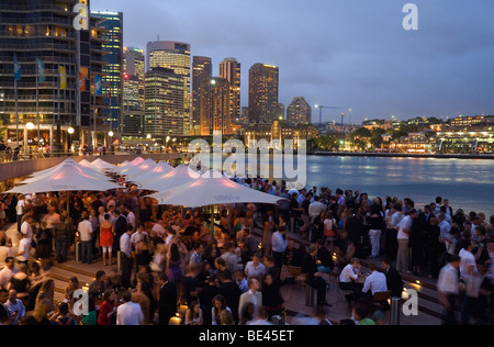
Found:
M 202 136 L 231 133 L 229 90 L 229 82 L 224 78 L 203 80 L 200 98 Z

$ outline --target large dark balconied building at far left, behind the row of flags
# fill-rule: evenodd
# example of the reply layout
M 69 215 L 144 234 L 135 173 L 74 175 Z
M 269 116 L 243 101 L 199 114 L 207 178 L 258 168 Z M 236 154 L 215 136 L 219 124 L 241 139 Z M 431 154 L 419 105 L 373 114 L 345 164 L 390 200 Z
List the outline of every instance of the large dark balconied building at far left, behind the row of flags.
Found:
M 31 142 L 67 150 L 70 127 L 75 130 L 72 142 L 80 145 L 96 144 L 97 132 L 108 133 L 101 124 L 102 97 L 94 97 L 93 90 L 97 76 L 104 74 L 103 31 L 92 16 L 89 30 L 74 27 L 77 3 L 0 1 L 0 120 L 7 126 L 4 139 L 13 145 L 19 141 L 26 148 Z M 15 60 L 21 72 L 16 83 Z M 63 88 L 60 76 L 66 81 Z M 27 123 L 33 123 L 34 130 L 26 132 Z

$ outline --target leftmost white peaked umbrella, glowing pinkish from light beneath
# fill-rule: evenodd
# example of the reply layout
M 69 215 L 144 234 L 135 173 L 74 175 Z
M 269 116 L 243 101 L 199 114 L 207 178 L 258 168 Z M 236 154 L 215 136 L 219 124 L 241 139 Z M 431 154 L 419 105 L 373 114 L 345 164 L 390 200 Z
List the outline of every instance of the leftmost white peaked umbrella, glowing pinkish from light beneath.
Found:
M 65 164 L 59 166 L 48 177 L 43 177 L 32 183 L 16 187 L 8 193 L 40 193 L 40 192 L 56 192 L 56 191 L 106 191 L 111 189 L 119 189 L 121 186 L 110 182 L 108 180 L 96 178 L 79 168 Z

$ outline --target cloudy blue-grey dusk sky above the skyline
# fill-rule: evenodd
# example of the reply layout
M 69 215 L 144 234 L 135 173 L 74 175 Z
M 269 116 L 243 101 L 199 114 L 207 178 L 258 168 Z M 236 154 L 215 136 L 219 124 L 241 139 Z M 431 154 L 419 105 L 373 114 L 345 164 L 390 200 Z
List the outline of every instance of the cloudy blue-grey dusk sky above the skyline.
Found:
M 418 31 L 402 26 L 418 7 Z M 124 13 L 124 44 L 180 41 L 191 54 L 280 68 L 280 102 L 304 97 L 324 121 L 494 114 L 493 0 L 92 0 Z M 318 122 L 318 110 L 313 108 Z M 348 117 L 346 122 L 348 122 Z

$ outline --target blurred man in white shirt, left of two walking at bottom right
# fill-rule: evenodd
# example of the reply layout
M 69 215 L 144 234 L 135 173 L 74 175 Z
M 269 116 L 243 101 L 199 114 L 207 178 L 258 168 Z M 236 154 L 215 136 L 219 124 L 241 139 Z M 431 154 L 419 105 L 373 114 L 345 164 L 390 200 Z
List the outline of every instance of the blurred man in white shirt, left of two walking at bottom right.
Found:
M 449 264 L 439 272 L 437 281 L 437 291 L 439 293 L 439 302 L 446 309 L 445 325 L 456 325 L 456 301 L 460 293 L 459 290 L 459 272 L 460 257 L 452 255 Z

